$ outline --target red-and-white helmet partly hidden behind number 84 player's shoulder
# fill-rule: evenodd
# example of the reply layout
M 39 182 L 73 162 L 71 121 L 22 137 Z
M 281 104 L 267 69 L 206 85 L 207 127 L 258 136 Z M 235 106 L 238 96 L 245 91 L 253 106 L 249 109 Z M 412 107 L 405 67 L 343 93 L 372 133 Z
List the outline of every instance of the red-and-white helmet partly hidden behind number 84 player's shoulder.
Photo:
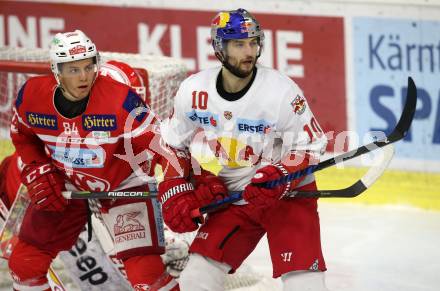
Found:
M 124 83 L 141 96 L 142 100 L 147 102 L 147 80 L 144 80 L 142 76 L 131 66 L 126 63 L 118 61 L 108 61 L 101 65 L 99 75 L 109 76 L 113 80 Z

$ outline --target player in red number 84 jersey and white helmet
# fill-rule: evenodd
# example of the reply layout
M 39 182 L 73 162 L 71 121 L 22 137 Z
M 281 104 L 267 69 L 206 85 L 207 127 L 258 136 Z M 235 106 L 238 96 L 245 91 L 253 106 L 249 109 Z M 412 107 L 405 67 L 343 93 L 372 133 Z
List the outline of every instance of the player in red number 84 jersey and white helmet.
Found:
M 88 220 L 87 201 L 67 201 L 63 190 L 148 191 L 157 163 L 165 176 L 181 175 L 176 156 L 161 147 L 157 117 L 142 98 L 97 76 L 99 54 L 83 32 L 57 34 L 50 59 L 53 75 L 30 78 L 13 108 L 11 137 L 31 199 L 9 259 L 16 290 L 49 290 L 50 263 L 75 243 Z M 100 209 L 133 288 L 145 290 L 165 279 L 164 288 L 177 289 L 174 279 L 162 276 L 159 203 L 107 200 Z

